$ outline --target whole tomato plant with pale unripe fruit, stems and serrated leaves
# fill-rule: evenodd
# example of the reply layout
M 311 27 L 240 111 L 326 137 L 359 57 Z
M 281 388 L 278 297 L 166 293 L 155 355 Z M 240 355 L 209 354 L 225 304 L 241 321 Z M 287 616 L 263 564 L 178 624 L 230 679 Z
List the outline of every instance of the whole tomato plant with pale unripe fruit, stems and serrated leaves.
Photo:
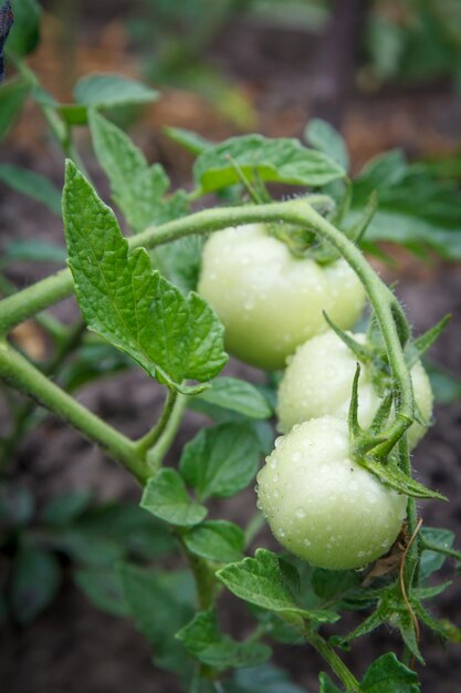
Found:
M 24 12 L 20 18 L 17 28 Z M 64 187 L 61 195 L 48 178 L 12 164 L 0 166 L 0 178 L 62 214 L 66 249 L 17 242 L 2 258 L 0 377 L 12 430 L 1 448 L 2 470 L 11 467 L 0 485 L 0 614 L 21 625 L 40 618 L 72 572 L 95 607 L 135 622 L 155 665 L 171 674 L 171 690 L 297 692 L 290 672 L 268 661 L 279 642 L 305 641 L 336 678 L 319 674 L 322 693 L 417 693 L 420 627 L 461 640 L 454 623 L 426 606 L 447 587 L 433 585 L 432 575 L 447 558 L 460 565 L 461 554 L 453 532 L 421 527 L 417 499 L 443 496 L 415 478 L 409 455 L 432 408 L 419 361 L 446 321 L 415 338 L 363 249 L 389 240 L 390 218 L 398 221 L 394 241 L 459 258 L 450 226 L 459 193 L 396 153 L 350 179 L 345 143 L 318 121 L 306 128 L 315 148 L 261 135 L 216 144 L 170 130 L 196 157 L 193 187 L 171 190 L 161 165 L 149 164 L 103 115 L 159 94 L 116 75 L 88 75 L 73 103 L 57 103 L 24 60 L 38 37 L 34 18 L 27 20 L 22 38 L 11 34 L 18 75 L 0 91 L 0 134 L 31 96 L 66 155 Z M 75 125 L 90 128 L 112 199 L 133 231 L 127 237 L 85 173 Z M 274 200 L 274 183 L 305 194 Z M 214 194 L 232 204 L 219 205 Z M 191 211 L 193 201 L 210 198 Z M 3 277 L 12 259 L 39 256 L 59 271 L 22 289 Z M 81 317 L 69 325 L 49 309 L 72 294 Z M 343 331 L 359 318 L 365 296 L 367 338 Z M 14 329 L 27 320 L 46 333 L 43 358 L 18 348 Z M 260 385 L 221 375 L 226 345 L 269 371 L 291 358 L 279 405 L 279 374 L 263 373 Z M 135 368 L 164 405 L 134 438 L 80 394 Z M 188 408 L 207 418 L 171 455 Z M 274 447 L 275 411 L 286 435 Z M 44 412 L 136 479 L 139 504 L 97 504 L 84 490 L 38 507 L 30 490 L 12 484 L 21 436 Z M 256 475 L 258 503 L 283 552 L 265 548 L 270 534 L 260 536 L 264 520 L 253 494 L 238 513 L 228 505 Z M 249 606 L 244 628 L 232 635 L 220 625 L 224 589 Z M 353 629 L 333 630 L 347 612 Z M 401 652 L 395 640 L 397 653 L 378 652 L 358 680 L 340 651 L 380 624 L 399 631 Z

